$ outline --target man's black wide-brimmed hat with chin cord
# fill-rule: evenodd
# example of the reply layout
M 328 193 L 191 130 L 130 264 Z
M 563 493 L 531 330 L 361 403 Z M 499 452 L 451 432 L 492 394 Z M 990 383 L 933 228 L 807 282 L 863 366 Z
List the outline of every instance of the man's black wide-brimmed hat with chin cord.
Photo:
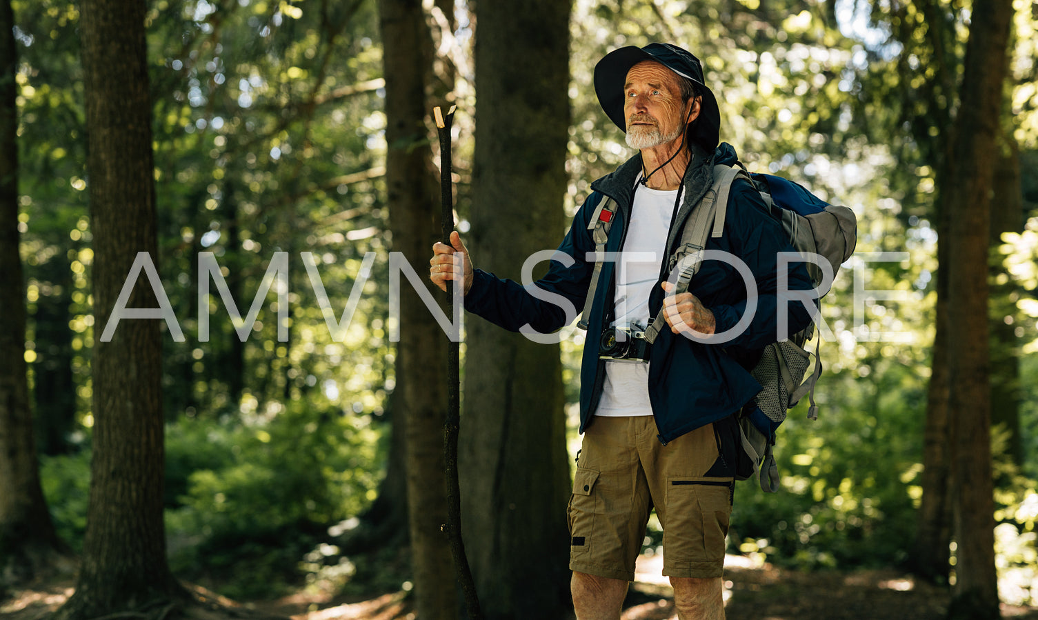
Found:
M 716 146 L 720 134 L 720 110 L 717 108 L 713 91 L 700 80 L 676 70 L 667 62 L 635 46 L 613 50 L 595 65 L 595 95 L 598 96 L 598 103 L 606 116 L 627 133 L 627 118 L 624 116 L 624 84 L 627 82 L 627 72 L 643 60 L 659 62 L 700 87 L 703 101 L 694 137 L 703 144 Z

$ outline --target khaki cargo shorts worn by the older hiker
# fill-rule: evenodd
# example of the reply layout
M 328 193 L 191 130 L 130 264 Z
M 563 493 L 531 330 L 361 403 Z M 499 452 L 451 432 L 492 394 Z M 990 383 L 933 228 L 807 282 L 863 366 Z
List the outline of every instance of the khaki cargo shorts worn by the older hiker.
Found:
M 570 569 L 633 581 L 655 508 L 663 574 L 721 576 L 735 491 L 734 463 L 718 451 L 730 443 L 728 422 L 716 423 L 716 436 L 715 425 L 707 425 L 663 446 L 652 415 L 596 416 L 584 432 L 568 509 Z

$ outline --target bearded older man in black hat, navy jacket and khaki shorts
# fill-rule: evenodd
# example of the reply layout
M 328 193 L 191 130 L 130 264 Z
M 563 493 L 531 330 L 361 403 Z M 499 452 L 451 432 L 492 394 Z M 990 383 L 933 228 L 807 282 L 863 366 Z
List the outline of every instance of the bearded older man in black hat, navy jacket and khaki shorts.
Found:
M 671 44 L 610 52 L 595 68 L 595 90 L 638 153 L 592 184 L 558 247 L 571 260 L 552 260 L 535 282 L 571 306 L 473 269 L 457 233 L 453 247 L 434 246 L 430 277 L 444 291 L 448 280 L 463 279 L 466 309 L 513 331 L 555 331 L 592 295 L 580 374 L 583 439 L 568 509 L 578 620 L 620 617 L 653 509 L 679 618 L 723 618 L 721 574 L 739 450 L 735 414 L 761 389 L 746 368 L 776 340 L 777 305 L 786 303 L 776 295 L 777 253 L 792 247 L 758 191 L 737 179 L 723 234 L 707 249 L 747 266 L 757 296 L 747 297 L 736 267 L 725 261 L 705 262 L 688 291 L 673 294 L 665 259 L 680 243 L 681 225 L 710 189 L 713 166 L 736 161 L 731 146 L 717 146 L 717 102 L 700 60 Z M 607 198 L 614 213 L 599 209 Z M 604 249 L 619 259 L 601 264 L 593 286 L 593 232 L 605 218 Z M 790 290 L 812 288 L 799 263 L 789 268 L 788 281 Z M 732 329 L 747 311 L 753 319 L 728 342 L 703 339 Z M 650 345 L 640 336 L 660 312 L 671 330 Z M 788 316 L 790 333 L 810 320 L 801 304 L 789 304 Z M 629 346 L 610 347 L 616 338 Z

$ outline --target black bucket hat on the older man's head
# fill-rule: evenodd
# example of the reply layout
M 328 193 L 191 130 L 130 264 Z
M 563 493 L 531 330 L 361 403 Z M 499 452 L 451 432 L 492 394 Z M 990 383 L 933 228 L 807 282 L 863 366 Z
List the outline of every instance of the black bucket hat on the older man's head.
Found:
M 627 132 L 624 84 L 627 72 L 643 60 L 655 60 L 699 87 L 703 101 L 692 137 L 710 149 L 716 146 L 720 133 L 720 111 L 713 91 L 703 83 L 703 65 L 699 58 L 668 43 L 651 43 L 644 48 L 627 46 L 609 52 L 598 61 L 595 65 L 595 93 L 609 119 Z

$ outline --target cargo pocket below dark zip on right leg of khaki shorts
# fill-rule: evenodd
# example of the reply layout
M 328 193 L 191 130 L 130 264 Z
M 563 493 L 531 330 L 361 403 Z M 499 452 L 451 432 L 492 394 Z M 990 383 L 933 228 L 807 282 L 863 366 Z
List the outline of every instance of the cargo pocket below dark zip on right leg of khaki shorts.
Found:
M 681 563 L 722 563 L 734 492 L 731 478 L 668 478 L 664 558 L 670 554 Z

